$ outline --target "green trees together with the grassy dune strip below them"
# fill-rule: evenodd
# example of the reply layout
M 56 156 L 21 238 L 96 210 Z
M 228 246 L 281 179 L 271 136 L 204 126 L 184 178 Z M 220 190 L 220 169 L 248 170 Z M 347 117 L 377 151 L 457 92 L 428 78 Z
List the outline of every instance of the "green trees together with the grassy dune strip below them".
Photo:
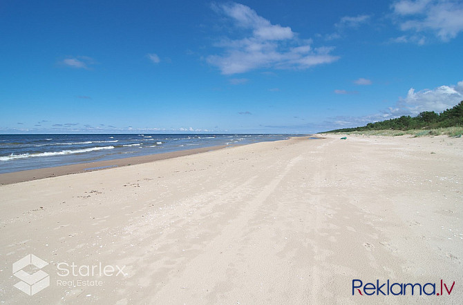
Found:
M 341 128 L 328 132 L 354 133 L 363 135 L 448 135 L 461 137 L 463 134 L 463 101 L 453 108 L 436 113 L 420 112 L 416 117 L 404 115 L 395 119 L 368 123 L 366 126 Z

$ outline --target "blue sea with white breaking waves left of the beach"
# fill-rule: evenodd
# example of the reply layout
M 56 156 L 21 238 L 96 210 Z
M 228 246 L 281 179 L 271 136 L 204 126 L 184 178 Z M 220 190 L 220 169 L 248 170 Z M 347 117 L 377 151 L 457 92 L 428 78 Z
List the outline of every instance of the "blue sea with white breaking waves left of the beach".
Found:
M 300 135 L 0 135 L 0 173 L 211 146 L 278 141 Z

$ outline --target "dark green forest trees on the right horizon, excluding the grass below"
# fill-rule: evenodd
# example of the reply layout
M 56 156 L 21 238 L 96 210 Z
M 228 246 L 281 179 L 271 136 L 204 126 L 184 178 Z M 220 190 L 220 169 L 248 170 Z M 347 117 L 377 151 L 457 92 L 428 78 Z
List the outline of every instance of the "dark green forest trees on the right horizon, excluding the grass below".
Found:
M 368 123 L 366 126 L 354 128 L 342 128 L 330 130 L 329 132 L 348 132 L 348 131 L 365 131 L 365 130 L 410 130 L 410 129 L 434 129 L 446 128 L 453 126 L 463 126 L 463 101 L 451 109 L 444 112 L 436 113 L 434 111 L 424 111 L 416 117 L 403 115 L 397 119 L 387 119 L 386 121 L 377 121 Z

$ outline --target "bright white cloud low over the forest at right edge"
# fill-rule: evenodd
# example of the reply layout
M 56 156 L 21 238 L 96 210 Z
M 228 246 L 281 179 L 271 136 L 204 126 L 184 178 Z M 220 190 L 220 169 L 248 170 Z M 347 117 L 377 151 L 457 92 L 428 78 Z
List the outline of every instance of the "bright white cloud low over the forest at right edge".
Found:
M 463 81 L 456 86 L 440 86 L 415 92 L 408 90 L 405 98 L 400 98 L 394 108 L 389 108 L 390 115 L 418 115 L 422 111 L 442 112 L 452 108 L 463 100 Z

